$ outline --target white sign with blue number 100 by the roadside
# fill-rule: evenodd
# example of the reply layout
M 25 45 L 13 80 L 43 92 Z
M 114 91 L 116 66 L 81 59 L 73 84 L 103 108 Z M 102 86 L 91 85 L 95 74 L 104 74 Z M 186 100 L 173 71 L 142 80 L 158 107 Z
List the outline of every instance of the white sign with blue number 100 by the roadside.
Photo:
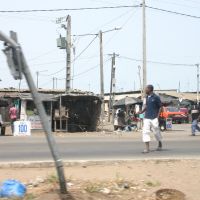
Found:
M 14 136 L 30 136 L 31 123 L 29 121 L 16 121 L 14 122 Z

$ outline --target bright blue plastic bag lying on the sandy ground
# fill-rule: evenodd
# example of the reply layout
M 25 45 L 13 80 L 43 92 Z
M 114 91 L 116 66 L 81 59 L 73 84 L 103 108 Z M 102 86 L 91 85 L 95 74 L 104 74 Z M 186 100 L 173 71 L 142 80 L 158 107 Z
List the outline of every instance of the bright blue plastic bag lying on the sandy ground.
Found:
M 25 196 L 26 186 L 16 180 L 6 180 L 0 186 L 0 197 L 19 197 Z

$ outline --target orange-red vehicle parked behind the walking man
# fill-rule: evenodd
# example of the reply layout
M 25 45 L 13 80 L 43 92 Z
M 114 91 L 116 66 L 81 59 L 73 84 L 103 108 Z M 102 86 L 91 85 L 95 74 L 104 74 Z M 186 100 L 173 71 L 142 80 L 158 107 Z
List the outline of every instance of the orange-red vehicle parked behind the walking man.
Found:
M 186 110 L 180 110 L 177 107 L 163 107 L 161 117 L 164 119 L 171 118 L 173 123 L 188 123 L 189 115 L 185 112 Z

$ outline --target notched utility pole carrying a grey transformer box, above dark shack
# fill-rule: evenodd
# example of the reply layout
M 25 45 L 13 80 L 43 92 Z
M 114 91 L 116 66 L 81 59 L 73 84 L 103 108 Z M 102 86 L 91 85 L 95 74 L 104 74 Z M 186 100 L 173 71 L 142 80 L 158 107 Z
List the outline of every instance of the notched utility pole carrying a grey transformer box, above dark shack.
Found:
M 67 53 L 67 69 L 66 69 L 66 93 L 71 90 L 71 16 L 67 16 L 67 35 L 66 35 L 66 53 Z

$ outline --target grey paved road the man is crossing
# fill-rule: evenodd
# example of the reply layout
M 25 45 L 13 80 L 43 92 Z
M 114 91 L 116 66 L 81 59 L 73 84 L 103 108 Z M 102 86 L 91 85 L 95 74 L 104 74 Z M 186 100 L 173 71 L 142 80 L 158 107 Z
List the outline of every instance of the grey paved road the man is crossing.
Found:
M 64 160 L 200 158 L 200 136 L 191 137 L 189 131 L 177 130 L 164 134 L 162 152 L 143 155 L 140 134 L 70 135 L 56 137 Z M 152 149 L 156 143 L 152 142 Z M 51 160 L 45 137 L 0 137 L 0 162 Z

